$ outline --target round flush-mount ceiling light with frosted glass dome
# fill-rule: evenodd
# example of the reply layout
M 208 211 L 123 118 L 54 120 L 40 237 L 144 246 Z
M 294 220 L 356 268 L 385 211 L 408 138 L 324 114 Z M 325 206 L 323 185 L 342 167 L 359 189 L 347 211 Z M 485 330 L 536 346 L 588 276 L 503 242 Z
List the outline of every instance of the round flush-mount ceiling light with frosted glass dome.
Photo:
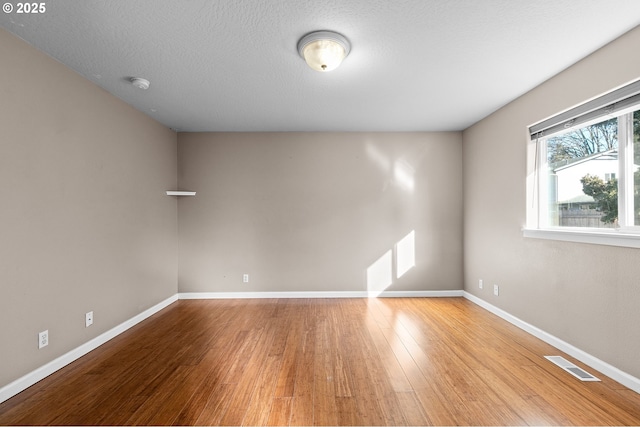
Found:
M 315 31 L 298 42 L 298 53 L 316 71 L 331 71 L 349 55 L 351 43 L 332 31 Z

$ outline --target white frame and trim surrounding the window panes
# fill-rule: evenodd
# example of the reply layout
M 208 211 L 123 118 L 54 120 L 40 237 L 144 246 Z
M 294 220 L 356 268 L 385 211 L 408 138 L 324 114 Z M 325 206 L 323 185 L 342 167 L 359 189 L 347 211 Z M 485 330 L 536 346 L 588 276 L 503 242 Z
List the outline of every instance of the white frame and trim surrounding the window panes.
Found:
M 636 81 L 626 87 L 637 87 Z M 618 89 L 619 91 L 620 89 Z M 615 91 L 614 91 L 615 92 Z M 601 98 L 605 100 L 610 97 L 605 94 Z M 591 100 L 584 105 L 594 103 Z M 613 104 L 612 104 L 613 105 Z M 602 108 L 604 104 L 600 105 Z M 578 106 L 575 109 L 580 109 Z M 524 237 L 569 241 L 588 244 L 600 244 L 609 246 L 622 246 L 640 248 L 640 225 L 634 224 L 634 161 L 633 161 L 633 113 L 640 110 L 640 102 L 624 105 L 612 114 L 606 114 L 608 109 L 604 109 L 605 114 L 600 114 L 589 121 L 581 121 L 573 125 L 574 120 L 567 112 L 557 115 L 565 121 L 565 125 L 559 129 L 562 123 L 560 119 L 555 120 L 552 132 L 548 135 L 545 130 L 540 130 L 540 125 L 533 125 L 528 128 L 528 150 L 527 165 L 529 174 L 527 176 L 527 215 L 526 226 L 522 232 Z M 571 110 L 568 110 L 571 111 Z M 587 114 L 585 114 L 586 116 Z M 553 226 L 546 223 L 545 218 L 549 215 L 547 201 L 547 174 L 544 173 L 547 167 L 547 144 L 546 140 L 556 135 L 569 132 L 571 129 L 579 129 L 590 123 L 607 120 L 607 118 L 618 118 L 618 224 L 616 228 L 596 228 L 596 227 L 562 227 Z M 553 122 L 554 118 L 545 122 Z M 541 122 L 544 123 L 544 122 Z M 567 126 L 568 125 L 568 126 Z M 573 125 L 573 126 L 572 126 Z M 536 129 L 536 126 L 538 128 Z M 533 130 L 536 130 L 535 132 Z

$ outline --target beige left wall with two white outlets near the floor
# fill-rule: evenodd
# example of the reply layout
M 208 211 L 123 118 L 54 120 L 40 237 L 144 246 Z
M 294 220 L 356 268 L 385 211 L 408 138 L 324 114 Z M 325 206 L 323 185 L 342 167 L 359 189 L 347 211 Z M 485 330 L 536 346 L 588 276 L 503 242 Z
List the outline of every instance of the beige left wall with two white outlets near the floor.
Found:
M 1 29 L 0 58 L 2 387 L 175 295 L 177 153 L 175 133 Z

